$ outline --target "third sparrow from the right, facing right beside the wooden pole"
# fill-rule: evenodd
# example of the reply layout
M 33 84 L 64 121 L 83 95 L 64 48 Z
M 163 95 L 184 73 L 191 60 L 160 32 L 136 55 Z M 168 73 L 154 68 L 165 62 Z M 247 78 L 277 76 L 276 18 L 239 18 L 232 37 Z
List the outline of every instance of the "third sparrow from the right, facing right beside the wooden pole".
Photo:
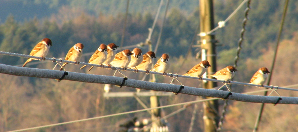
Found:
M 184 76 L 190 76 L 190 77 L 201 77 L 206 71 L 207 68 L 210 66 L 208 61 L 201 61 L 197 65 L 195 65 L 192 69 L 189 71 L 186 71 L 186 74 L 183 74 Z

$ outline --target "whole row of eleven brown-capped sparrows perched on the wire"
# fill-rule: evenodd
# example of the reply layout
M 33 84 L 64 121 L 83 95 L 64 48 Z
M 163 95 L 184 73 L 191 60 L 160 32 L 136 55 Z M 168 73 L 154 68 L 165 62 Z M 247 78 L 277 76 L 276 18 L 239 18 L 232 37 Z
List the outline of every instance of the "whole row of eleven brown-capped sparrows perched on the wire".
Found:
M 51 39 L 44 38 L 41 40 L 41 42 L 35 45 L 33 50 L 30 52 L 30 55 L 44 58 L 48 53 L 50 46 L 52 46 Z M 147 73 L 149 73 L 149 71 L 156 71 L 166 75 L 165 71 L 167 71 L 167 69 L 170 66 L 168 54 L 162 54 L 162 57 L 154 65 L 153 69 L 151 69 L 154 63 L 154 58 L 156 58 L 154 52 L 149 51 L 146 54 L 142 55 L 142 50 L 136 47 L 132 52 L 128 49 L 125 49 L 117 53 L 117 47 L 118 46 L 114 43 L 108 45 L 100 44 L 100 47 L 98 47 L 95 53 L 91 56 L 88 63 L 98 64 L 101 66 L 105 65 L 109 67 L 115 66 L 123 69 L 133 68 L 136 72 L 138 70 L 144 70 L 147 71 Z M 83 44 L 75 44 L 73 47 L 70 48 L 70 50 L 66 54 L 65 60 L 78 62 L 82 57 L 83 48 Z M 24 63 L 23 67 L 26 66 L 26 64 L 32 60 L 38 59 L 28 58 L 28 60 Z M 60 71 L 63 70 L 66 64 L 67 63 L 63 63 L 63 67 L 60 68 Z M 211 65 L 208 61 L 201 61 L 192 69 L 187 71 L 186 74 L 183 75 L 191 77 L 201 77 L 207 71 L 207 68 L 210 66 Z M 86 67 L 86 65 L 82 66 L 80 69 L 83 69 L 84 67 Z M 91 66 L 91 68 L 89 68 L 88 71 L 90 71 L 92 68 L 93 66 Z M 206 76 L 212 76 L 218 80 L 229 81 L 230 79 L 232 79 L 232 77 L 234 77 L 235 71 L 237 71 L 237 69 L 234 66 L 227 66 L 224 69 L 217 71 L 215 74 Z M 268 77 L 268 73 L 270 72 L 266 67 L 260 68 L 253 75 L 249 83 L 263 85 L 263 83 L 266 81 L 266 78 Z

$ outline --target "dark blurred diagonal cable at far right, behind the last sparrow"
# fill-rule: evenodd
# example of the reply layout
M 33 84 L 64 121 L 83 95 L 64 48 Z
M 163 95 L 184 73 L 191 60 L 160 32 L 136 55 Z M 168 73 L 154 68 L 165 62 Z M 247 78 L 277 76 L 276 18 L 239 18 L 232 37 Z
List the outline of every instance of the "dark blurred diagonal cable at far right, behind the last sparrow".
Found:
M 285 1 L 285 6 L 284 6 L 284 9 L 283 9 L 282 21 L 280 23 L 279 33 L 278 33 L 278 37 L 277 37 L 277 42 L 276 42 L 274 57 L 273 57 L 272 64 L 271 64 L 271 71 L 270 71 L 271 73 L 268 76 L 267 85 L 269 85 L 270 82 L 271 82 L 271 76 L 273 74 L 273 69 L 274 69 L 274 65 L 275 65 L 275 61 L 276 61 L 276 57 L 277 57 L 278 45 L 279 45 L 279 42 L 280 42 L 281 34 L 283 32 L 283 25 L 285 23 L 285 16 L 286 16 L 287 10 L 288 10 L 288 3 L 289 3 L 289 0 L 286 0 Z M 264 96 L 267 96 L 267 94 L 268 94 L 268 92 L 266 91 L 264 93 Z M 259 113 L 257 115 L 257 119 L 256 119 L 256 122 L 254 124 L 254 130 L 253 130 L 253 132 L 256 132 L 258 130 L 259 123 L 260 123 L 260 120 L 261 120 L 261 117 L 262 117 L 262 114 L 263 114 L 264 106 L 265 106 L 265 104 L 261 104 L 260 111 L 259 111 Z

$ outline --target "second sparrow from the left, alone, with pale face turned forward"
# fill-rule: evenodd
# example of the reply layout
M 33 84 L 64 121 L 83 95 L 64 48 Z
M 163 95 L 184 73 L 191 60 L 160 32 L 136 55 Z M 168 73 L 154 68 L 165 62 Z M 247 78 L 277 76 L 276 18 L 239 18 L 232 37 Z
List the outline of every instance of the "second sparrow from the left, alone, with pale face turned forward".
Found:
M 66 54 L 66 57 L 64 60 L 66 61 L 75 61 L 77 63 L 77 61 L 80 60 L 80 58 L 82 57 L 83 54 L 83 48 L 84 45 L 82 43 L 77 43 L 75 44 L 75 46 L 71 47 L 68 51 L 68 53 Z M 66 65 L 67 63 L 63 63 L 63 67 Z M 60 68 L 60 71 L 63 68 Z

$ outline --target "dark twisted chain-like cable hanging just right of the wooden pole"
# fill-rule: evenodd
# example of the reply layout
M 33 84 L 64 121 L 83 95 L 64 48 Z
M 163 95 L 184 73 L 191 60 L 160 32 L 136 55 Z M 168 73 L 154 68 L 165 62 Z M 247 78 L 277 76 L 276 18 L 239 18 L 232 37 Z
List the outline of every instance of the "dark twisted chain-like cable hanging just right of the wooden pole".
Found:
M 246 26 L 246 22 L 248 20 L 248 12 L 250 10 L 250 2 L 251 0 L 248 0 L 247 3 L 246 3 L 246 9 L 245 9 L 245 13 L 244 13 L 244 19 L 242 21 L 242 30 L 240 32 L 240 39 L 238 40 L 238 48 L 237 48 L 237 53 L 236 53 L 236 57 L 235 57 L 235 60 L 234 60 L 234 67 L 237 68 L 237 63 L 238 63 L 238 60 L 239 60 L 239 55 L 240 55 L 240 51 L 242 49 L 241 45 L 242 45 L 242 42 L 244 40 L 244 33 L 246 31 L 245 29 L 245 26 Z M 232 88 L 232 86 L 231 86 Z M 226 112 L 227 112 L 227 107 L 228 107 L 228 100 L 225 100 L 224 102 L 224 106 L 223 106 L 223 110 L 222 110 L 222 114 L 221 114 L 221 117 L 219 119 L 219 123 L 218 123 L 218 129 L 217 131 L 220 132 L 222 130 L 222 127 L 223 127 L 223 122 L 224 122 L 224 118 L 225 118 L 225 115 L 226 115 Z

